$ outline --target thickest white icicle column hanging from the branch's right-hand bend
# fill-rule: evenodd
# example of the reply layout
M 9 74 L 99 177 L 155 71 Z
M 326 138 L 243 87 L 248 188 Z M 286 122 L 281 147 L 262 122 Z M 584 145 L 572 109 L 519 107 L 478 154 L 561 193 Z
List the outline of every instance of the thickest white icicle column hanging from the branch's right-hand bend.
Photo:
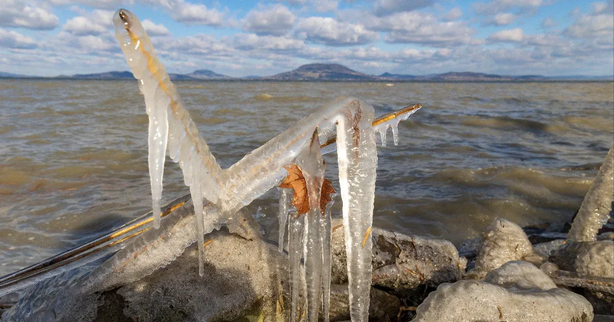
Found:
M 371 289 L 371 223 L 377 153 L 373 107 L 357 101 L 352 115 L 337 119 L 337 158 L 348 253 L 350 316 L 367 321 Z

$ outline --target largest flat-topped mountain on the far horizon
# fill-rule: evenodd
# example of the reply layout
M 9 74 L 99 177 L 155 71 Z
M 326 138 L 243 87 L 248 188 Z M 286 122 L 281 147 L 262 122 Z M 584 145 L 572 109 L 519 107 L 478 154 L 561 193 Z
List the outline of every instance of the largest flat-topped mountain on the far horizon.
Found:
M 376 75 L 352 71 L 340 64 L 307 64 L 289 72 L 262 77 L 266 80 L 382 80 Z

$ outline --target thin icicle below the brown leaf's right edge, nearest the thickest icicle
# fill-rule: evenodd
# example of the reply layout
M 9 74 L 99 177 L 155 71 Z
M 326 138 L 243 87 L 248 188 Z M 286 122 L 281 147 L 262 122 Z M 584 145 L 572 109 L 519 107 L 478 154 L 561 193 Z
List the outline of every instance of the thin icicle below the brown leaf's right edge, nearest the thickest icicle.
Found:
M 328 311 L 330 309 L 330 272 L 331 272 L 331 254 L 330 254 L 330 210 L 335 203 L 335 196 L 328 202 L 324 210 L 324 217 L 321 220 L 321 237 L 322 237 L 322 314 L 324 322 L 330 321 Z

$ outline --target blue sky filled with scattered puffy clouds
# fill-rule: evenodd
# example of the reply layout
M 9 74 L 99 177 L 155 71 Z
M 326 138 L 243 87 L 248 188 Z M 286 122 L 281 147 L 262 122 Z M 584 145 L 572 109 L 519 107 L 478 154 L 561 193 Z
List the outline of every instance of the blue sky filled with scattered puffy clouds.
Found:
M 0 0 L 0 72 L 125 71 L 120 8 L 168 72 L 273 75 L 308 63 L 368 74 L 614 74 L 614 0 Z

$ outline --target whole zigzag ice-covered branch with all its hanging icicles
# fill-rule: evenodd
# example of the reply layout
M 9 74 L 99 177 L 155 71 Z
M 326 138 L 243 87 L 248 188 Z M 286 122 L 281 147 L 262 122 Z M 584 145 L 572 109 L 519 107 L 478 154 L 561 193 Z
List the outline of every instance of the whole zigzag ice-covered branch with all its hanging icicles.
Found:
M 198 240 L 200 274 L 203 274 L 203 234 L 232 220 L 241 208 L 278 185 L 287 175 L 284 166 L 298 164 L 307 181 L 311 210 L 301 218 L 293 218 L 292 214 L 289 216 L 289 253 L 293 270 L 292 303 L 296 303 L 298 298 L 297 286 L 300 283 L 297 280 L 303 275 L 300 272 L 300 262 L 301 255 L 304 255 L 306 270 L 303 276 L 306 278 L 307 297 L 311 300 L 308 301 L 308 318 L 310 321 L 317 320 L 319 305 L 323 303 L 324 308 L 328 305 L 327 294 L 324 294 L 322 302 L 322 283 L 323 280 L 330 280 L 330 264 L 323 268 L 323 264 L 330 263 L 326 255 L 330 247 L 323 246 L 324 242 L 330 240 L 330 209 L 323 217 L 316 205 L 319 205 L 324 170 L 321 154 L 333 150 L 333 145 L 324 144 L 327 148 L 321 151 L 319 142 L 332 137 L 336 132 L 343 226 L 348 253 L 351 318 L 352 321 L 366 321 L 371 286 L 370 231 L 377 166 L 375 131 L 372 126 L 376 126 L 380 134 L 385 134 L 387 126 L 392 126 L 397 143 L 398 121 L 409 117 L 419 109 L 419 105 L 392 113 L 374 124 L 374 111 L 370 104 L 360 98 L 340 97 L 298 121 L 230 168 L 222 170 L 181 104 L 181 99 L 158 61 L 138 18 L 127 10 L 120 9 L 113 20 L 115 35 L 134 77 L 138 79 L 147 113 L 150 115 L 149 167 L 154 226 L 160 226 L 157 217 L 167 140 L 169 156 L 179 163 L 185 185 L 190 186 L 196 214 L 195 239 Z M 205 207 L 206 210 L 203 210 L 204 199 L 210 202 L 208 207 Z M 281 196 L 281 199 L 284 201 L 284 196 Z M 287 204 L 287 199 L 285 202 Z M 286 207 L 284 204 L 280 205 L 281 216 L 287 212 Z M 301 223 L 303 220 L 305 222 Z M 285 227 L 285 223 L 280 217 L 280 231 L 282 226 Z M 175 245 L 177 248 L 189 240 L 185 236 L 181 237 L 181 242 Z M 283 247 L 282 240 L 281 236 L 280 247 Z M 141 242 L 146 241 L 142 239 Z M 153 250 L 156 248 L 153 245 L 149 247 Z M 154 261 L 155 263 L 173 260 L 176 250 L 160 255 L 162 258 Z M 112 263 L 109 265 L 107 269 L 115 267 Z M 324 286 L 324 290 L 326 293 L 328 285 Z M 297 309 L 293 307 L 292 312 L 295 314 Z

